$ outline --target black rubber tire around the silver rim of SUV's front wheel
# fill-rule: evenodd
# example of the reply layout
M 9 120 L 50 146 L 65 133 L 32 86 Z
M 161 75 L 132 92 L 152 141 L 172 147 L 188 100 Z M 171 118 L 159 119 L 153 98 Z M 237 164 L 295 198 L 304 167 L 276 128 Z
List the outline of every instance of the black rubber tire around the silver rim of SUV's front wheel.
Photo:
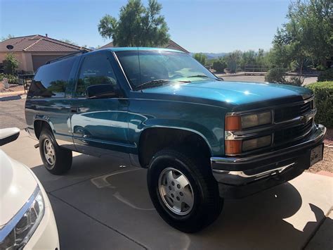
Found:
M 179 170 L 190 183 L 194 202 L 188 214 L 178 215 L 171 211 L 159 192 L 159 175 L 169 167 Z M 150 161 L 147 182 L 150 199 L 159 215 L 166 223 L 183 232 L 202 230 L 213 223 L 222 211 L 223 199 L 218 194 L 218 184 L 211 169 L 194 154 L 182 153 L 174 149 L 157 152 Z

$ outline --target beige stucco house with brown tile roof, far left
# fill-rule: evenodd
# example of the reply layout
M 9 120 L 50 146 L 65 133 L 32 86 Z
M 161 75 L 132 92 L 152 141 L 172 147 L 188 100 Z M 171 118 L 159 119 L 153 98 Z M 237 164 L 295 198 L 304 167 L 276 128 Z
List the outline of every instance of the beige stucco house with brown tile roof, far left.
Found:
M 8 47 L 11 48 L 8 45 L 13 46 L 13 49 L 8 49 Z M 20 62 L 19 71 L 35 72 L 39 66 L 53 58 L 81 50 L 89 51 L 89 49 L 48 37 L 47 34 L 13 37 L 0 42 L 0 64 L 3 63 L 8 52 L 13 52 Z

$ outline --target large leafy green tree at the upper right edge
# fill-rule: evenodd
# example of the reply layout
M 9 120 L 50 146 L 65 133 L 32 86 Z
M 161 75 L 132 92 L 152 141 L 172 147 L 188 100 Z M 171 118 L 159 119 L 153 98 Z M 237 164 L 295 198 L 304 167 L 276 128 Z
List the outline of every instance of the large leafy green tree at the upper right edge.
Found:
M 289 5 L 288 22 L 273 39 L 273 63 L 298 65 L 299 73 L 311 58 L 322 63 L 333 51 L 333 27 L 330 20 L 331 0 L 296 0 Z M 280 57 L 280 58 L 279 58 Z

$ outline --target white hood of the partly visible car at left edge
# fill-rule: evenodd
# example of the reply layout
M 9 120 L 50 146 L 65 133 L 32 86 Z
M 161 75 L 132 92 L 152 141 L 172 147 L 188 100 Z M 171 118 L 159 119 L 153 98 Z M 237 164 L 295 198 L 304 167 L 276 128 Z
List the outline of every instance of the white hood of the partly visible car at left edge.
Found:
M 0 228 L 18 213 L 36 187 L 30 170 L 0 149 Z

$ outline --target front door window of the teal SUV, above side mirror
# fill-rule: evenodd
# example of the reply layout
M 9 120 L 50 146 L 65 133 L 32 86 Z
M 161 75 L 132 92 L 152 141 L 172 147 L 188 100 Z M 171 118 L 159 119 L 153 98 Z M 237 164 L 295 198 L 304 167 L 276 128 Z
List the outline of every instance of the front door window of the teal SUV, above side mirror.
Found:
M 86 56 L 77 80 L 76 96 L 86 96 L 86 88 L 91 85 L 109 84 L 118 89 L 117 78 L 105 54 Z

